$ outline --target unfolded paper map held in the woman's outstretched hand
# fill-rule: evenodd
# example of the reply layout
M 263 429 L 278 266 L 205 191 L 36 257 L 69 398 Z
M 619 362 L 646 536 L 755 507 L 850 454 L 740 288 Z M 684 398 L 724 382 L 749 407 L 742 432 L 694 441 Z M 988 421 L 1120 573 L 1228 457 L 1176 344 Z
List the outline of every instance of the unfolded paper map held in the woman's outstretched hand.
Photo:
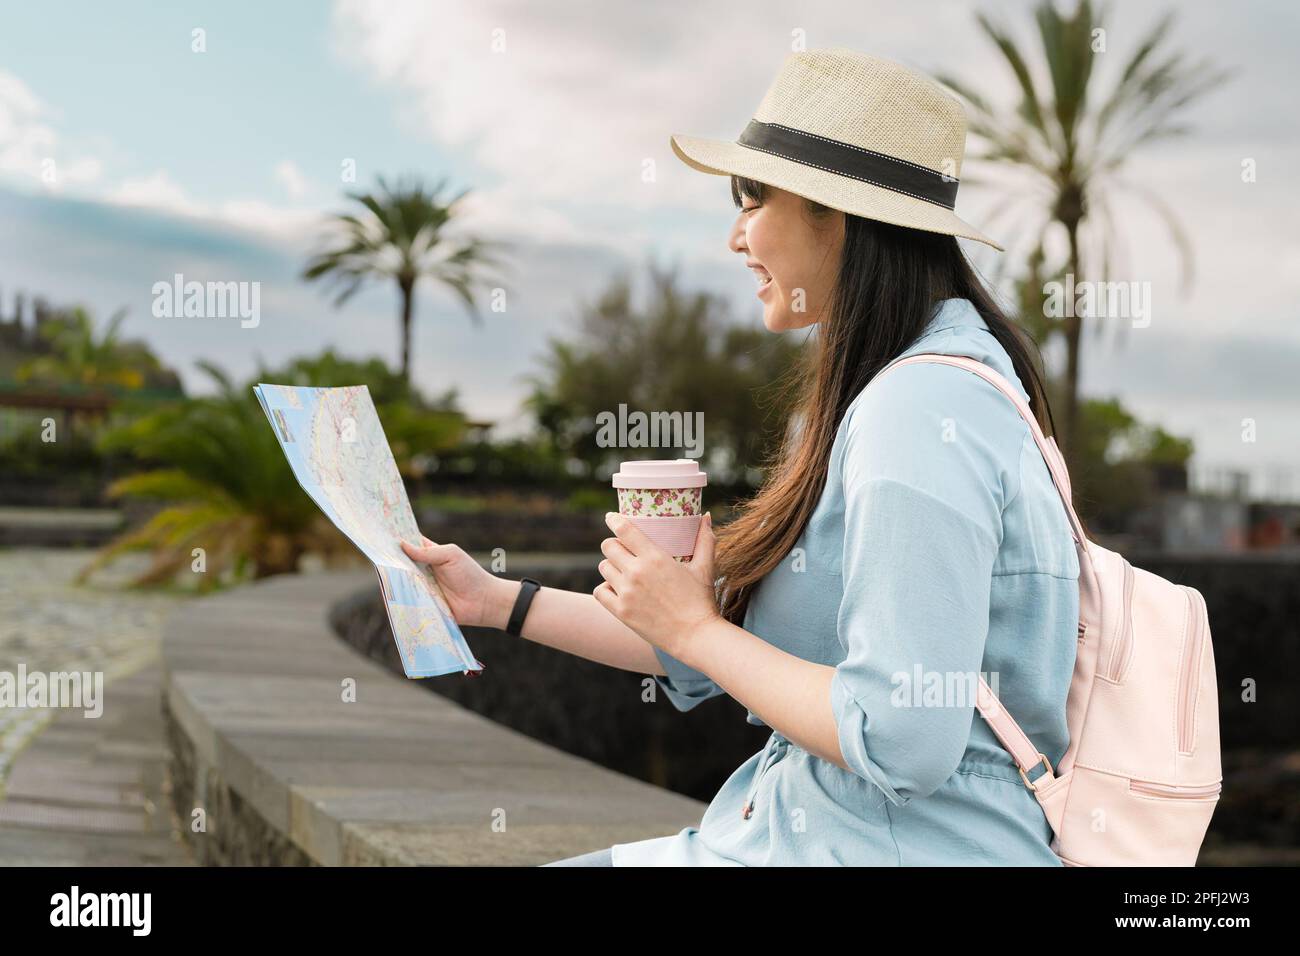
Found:
M 298 484 L 374 564 L 406 675 L 481 671 L 433 574 L 399 545 L 420 541 L 420 529 L 369 389 L 257 385 L 254 393 Z

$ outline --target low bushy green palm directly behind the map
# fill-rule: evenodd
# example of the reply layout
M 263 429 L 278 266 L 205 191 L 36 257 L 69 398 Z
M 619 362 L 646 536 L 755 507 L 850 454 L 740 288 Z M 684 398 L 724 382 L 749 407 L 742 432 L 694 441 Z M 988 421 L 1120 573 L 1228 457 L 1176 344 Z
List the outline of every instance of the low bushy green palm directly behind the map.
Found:
M 352 553 L 348 540 L 299 486 L 251 382 L 235 386 L 207 362 L 199 368 L 212 378 L 216 394 L 170 403 L 104 436 L 104 451 L 129 453 L 151 466 L 109 485 L 109 497 L 161 502 L 164 507 L 110 541 L 81 572 L 82 580 L 131 551 L 152 557 L 133 581 L 144 587 L 172 583 L 190 567 L 192 550 L 202 548 L 207 572 L 198 579 L 200 591 L 229 579 L 292 572 L 308 553 L 329 561 Z M 398 468 L 406 473 L 416 454 L 458 447 L 465 421 L 455 410 L 411 401 L 407 390 L 391 381 L 395 377 L 377 360 L 351 362 L 325 352 L 280 371 L 263 369 L 254 381 L 313 386 L 347 381 L 372 388 Z

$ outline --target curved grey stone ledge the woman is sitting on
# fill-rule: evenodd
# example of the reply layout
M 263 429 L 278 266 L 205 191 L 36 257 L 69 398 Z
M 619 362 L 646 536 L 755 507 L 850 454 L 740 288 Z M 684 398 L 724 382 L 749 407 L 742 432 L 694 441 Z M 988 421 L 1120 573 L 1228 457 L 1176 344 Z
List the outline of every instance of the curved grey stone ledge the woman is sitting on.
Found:
M 208 864 L 536 865 L 697 825 L 705 805 L 389 674 L 330 630 L 372 572 L 185 605 L 162 640 L 172 793 Z M 343 701 L 355 680 L 356 701 Z M 490 679 L 447 675 L 434 680 Z

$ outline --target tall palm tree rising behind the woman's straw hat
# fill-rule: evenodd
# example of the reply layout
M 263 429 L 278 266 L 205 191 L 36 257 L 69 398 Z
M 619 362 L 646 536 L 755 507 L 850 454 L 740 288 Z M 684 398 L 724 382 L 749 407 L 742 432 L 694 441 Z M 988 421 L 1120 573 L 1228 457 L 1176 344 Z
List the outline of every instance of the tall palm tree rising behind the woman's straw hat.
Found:
M 968 104 L 971 134 L 982 140 L 974 159 L 1018 166 L 1037 187 L 1037 195 L 1017 189 L 998 212 L 1020 199 L 1036 199 L 1040 215 L 1036 248 L 1041 250 L 1049 230 L 1060 226 L 1069 250 L 1065 272 L 1072 274 L 1078 285 L 1086 269 L 1095 272 L 1095 278 L 1109 274 L 1118 243 L 1110 199 L 1117 190 L 1127 191 L 1147 202 L 1165 222 L 1178 246 L 1186 284 L 1192 271 L 1191 246 L 1176 217 L 1157 195 L 1123 179 L 1121 173 L 1134 151 L 1186 134 L 1190 126 L 1180 121 L 1180 113 L 1228 74 L 1206 61 L 1192 62 L 1182 52 L 1167 49 L 1166 36 L 1174 21 L 1174 13 L 1169 12 L 1140 39 L 1113 86 L 1102 94 L 1093 83 L 1093 66 L 1096 44 L 1105 36 L 1106 10 L 1080 0 L 1074 12 L 1066 14 L 1052 0 L 1041 0 L 1034 16 L 1046 70 L 1045 85 L 1010 31 L 976 14 L 980 30 L 1014 74 L 1019 104 L 1013 113 L 996 112 L 974 88 L 940 73 L 942 82 Z M 1086 260 L 1086 246 L 1096 259 Z M 1066 453 L 1078 420 L 1082 325 L 1075 315 L 1065 316 L 1058 324 L 1067 355 L 1062 388 L 1063 434 L 1058 438 Z

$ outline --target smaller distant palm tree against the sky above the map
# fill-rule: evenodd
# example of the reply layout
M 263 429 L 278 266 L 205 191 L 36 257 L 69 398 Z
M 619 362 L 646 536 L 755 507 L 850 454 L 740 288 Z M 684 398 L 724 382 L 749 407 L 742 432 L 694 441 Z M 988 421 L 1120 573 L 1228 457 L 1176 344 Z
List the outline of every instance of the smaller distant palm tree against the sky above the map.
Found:
M 489 243 L 472 235 L 445 233 L 468 190 L 443 202 L 446 181 L 432 189 L 419 179 L 389 186 L 382 177 L 374 193 L 350 193 L 361 204 L 356 213 L 334 219 L 335 242 L 312 256 L 303 278 L 332 280 L 341 287 L 335 306 L 350 299 L 368 280 L 398 284 L 402 297 L 402 377 L 411 380 L 411 319 L 415 290 L 432 278 L 455 293 L 474 323 L 480 323 L 474 285 L 482 267 L 494 265 Z

